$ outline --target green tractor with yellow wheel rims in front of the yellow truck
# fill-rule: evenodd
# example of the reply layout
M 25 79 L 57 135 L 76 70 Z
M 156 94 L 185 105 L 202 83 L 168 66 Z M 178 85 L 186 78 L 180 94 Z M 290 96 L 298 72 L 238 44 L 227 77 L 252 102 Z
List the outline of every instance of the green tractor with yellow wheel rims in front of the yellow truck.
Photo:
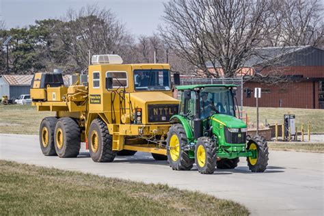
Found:
M 201 174 L 215 168 L 234 169 L 239 157 L 247 158 L 252 172 L 264 172 L 268 165 L 267 141 L 247 136 L 247 125 L 236 118 L 236 85 L 183 85 L 179 113 L 172 116 L 167 134 L 167 161 L 173 170 Z

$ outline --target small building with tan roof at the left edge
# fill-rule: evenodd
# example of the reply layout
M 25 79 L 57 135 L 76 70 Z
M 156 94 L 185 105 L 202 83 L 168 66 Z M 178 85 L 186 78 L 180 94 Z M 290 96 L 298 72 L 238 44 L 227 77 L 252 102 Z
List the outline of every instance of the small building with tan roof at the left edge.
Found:
M 0 97 L 18 98 L 21 94 L 29 94 L 33 75 L 0 75 Z

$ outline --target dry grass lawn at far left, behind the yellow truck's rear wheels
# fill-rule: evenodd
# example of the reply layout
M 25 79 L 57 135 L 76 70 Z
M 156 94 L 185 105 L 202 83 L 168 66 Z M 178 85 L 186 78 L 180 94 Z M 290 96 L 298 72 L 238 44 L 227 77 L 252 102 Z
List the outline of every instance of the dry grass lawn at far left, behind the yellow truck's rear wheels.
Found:
M 0 133 L 38 134 L 46 116 L 55 113 L 36 111 L 31 105 L 0 105 Z

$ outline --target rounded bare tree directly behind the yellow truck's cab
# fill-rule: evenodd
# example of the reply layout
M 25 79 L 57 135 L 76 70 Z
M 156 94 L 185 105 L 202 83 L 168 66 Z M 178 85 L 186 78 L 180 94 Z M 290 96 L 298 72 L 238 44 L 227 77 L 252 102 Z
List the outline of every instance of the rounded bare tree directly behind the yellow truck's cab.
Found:
M 87 5 L 79 11 L 69 10 L 58 28 L 64 52 L 78 70 L 87 68 L 88 51 L 94 54 L 124 53 L 121 49 L 129 36 L 124 25 L 110 10 Z

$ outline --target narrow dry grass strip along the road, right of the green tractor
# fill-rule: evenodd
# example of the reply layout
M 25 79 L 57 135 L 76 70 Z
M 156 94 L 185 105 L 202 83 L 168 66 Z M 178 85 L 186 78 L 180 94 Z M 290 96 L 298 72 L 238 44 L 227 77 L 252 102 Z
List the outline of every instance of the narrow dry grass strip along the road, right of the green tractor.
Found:
M 293 141 L 282 143 L 268 141 L 268 146 L 270 150 L 324 153 L 324 144 L 321 143 L 300 143 Z

